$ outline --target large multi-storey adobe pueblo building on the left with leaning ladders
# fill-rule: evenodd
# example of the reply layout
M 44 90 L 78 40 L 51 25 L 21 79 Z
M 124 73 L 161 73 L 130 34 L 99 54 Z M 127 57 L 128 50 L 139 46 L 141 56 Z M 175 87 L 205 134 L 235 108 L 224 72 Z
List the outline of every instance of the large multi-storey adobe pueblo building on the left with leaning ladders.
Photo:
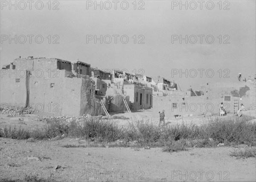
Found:
M 18 58 L 1 69 L 1 107 L 31 107 L 51 116 L 109 115 L 152 107 L 152 88 L 136 79 L 129 84 L 113 78 L 111 71 L 81 61 Z

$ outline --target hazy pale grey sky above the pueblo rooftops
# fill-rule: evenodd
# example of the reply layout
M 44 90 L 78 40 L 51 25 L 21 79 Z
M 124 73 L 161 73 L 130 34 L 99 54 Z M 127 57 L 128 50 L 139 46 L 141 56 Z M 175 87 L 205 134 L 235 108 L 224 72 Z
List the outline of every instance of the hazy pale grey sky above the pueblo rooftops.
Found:
M 51 10 L 47 4 L 48 0 L 42 1 L 44 7 L 41 10 L 40 3 L 37 3 L 38 9 L 35 7 L 37 1 L 32 3 L 31 10 L 29 3 L 24 2 L 24 10 L 21 3 L 17 4 L 15 10 L 15 6 L 9 7 L 9 1 L 1 1 L 1 65 L 12 62 L 18 56 L 55 57 L 71 62 L 79 59 L 101 69 L 127 69 L 129 72 L 136 69 L 138 74 L 142 73 L 139 70 L 143 69 L 144 74 L 148 76 L 160 75 L 175 80 L 183 90 L 189 88 L 189 85 L 195 89 L 199 88 L 205 82 L 236 81 L 239 72 L 243 79 L 249 74 L 256 73 L 255 0 L 230 0 L 225 4 L 222 1 L 221 10 L 219 0 L 212 1 L 213 9 L 211 3 L 206 6 L 208 1 L 202 4 L 202 9 L 200 3 L 194 1 L 198 6 L 195 10 L 192 10 L 195 3 L 189 4 L 190 1 L 187 1 L 188 9 L 182 6 L 180 10 L 179 5 L 174 6 L 180 1 L 171 0 L 137 1 L 136 10 L 134 0 L 127 1 L 127 10 L 124 10 L 125 3 L 122 3 L 123 9 L 121 8 L 122 1 L 117 3 L 116 10 L 113 1 L 109 1 L 112 5 L 109 10 L 109 3 L 103 4 L 105 1 L 102 1 L 102 10 L 100 6 L 96 6 L 96 10 L 94 5 L 87 7 L 94 1 L 85 0 L 52 1 Z M 58 10 L 53 10 L 54 6 Z M 138 10 L 140 6 L 144 10 Z M 224 7 L 227 10 L 224 10 Z M 27 40 L 22 44 L 24 39 L 21 36 L 20 40 L 17 38 L 17 44 L 15 40 L 9 43 L 9 36 L 15 38 L 15 35 L 24 35 Z M 31 43 L 27 35 L 34 36 Z M 44 38 L 41 44 L 35 41 L 37 35 Z M 53 44 L 57 38 L 53 37 L 54 35 L 58 35 L 59 39 L 56 42 L 59 44 Z M 102 39 L 102 44 L 100 40 L 95 44 L 94 40 L 87 40 L 87 35 L 110 35 L 112 42 L 105 43 L 109 41 L 107 36 L 105 42 Z M 116 44 L 113 35 L 119 35 Z M 128 36 L 128 43 L 120 41 L 122 35 Z M 137 37 L 136 44 L 134 35 Z M 139 37 L 140 35 L 142 36 Z M 188 38 L 187 44 L 186 40 L 181 44 L 180 40 L 172 43 L 173 35 L 181 35 L 183 38 L 188 35 L 190 39 Z M 198 35 L 204 36 L 202 43 Z M 5 40 L 6 36 L 8 40 Z M 123 41 L 126 41 L 125 36 L 123 37 Z M 144 44 L 138 44 L 143 37 Z M 197 42 L 193 44 L 195 37 Z M 214 41 L 210 44 L 211 37 L 214 37 Z M 224 44 L 225 40 L 229 44 Z M 38 42 L 40 41 L 39 37 Z M 188 78 L 185 74 L 181 77 L 180 74 L 172 77 L 172 72 L 180 69 L 183 72 L 188 69 Z M 195 78 L 192 78 L 195 75 L 195 70 L 192 69 L 197 71 Z M 202 78 L 198 69 L 205 69 L 202 70 Z M 212 78 L 212 71 L 208 71 L 207 77 L 207 69 L 214 71 Z M 189 73 L 192 77 L 189 77 Z M 224 78 L 225 74 L 230 78 Z

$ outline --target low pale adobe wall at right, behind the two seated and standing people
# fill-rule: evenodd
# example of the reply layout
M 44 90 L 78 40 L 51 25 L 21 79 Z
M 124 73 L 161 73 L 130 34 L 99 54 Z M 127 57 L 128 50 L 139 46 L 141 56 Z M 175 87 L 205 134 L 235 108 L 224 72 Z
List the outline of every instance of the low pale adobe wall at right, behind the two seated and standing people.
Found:
M 153 97 L 153 117 L 159 117 L 158 112 L 163 109 L 167 117 L 173 117 L 175 114 L 180 115 L 201 115 L 207 112 L 218 114 L 219 104 L 224 102 L 224 95 L 231 96 L 231 102 L 224 102 L 224 107 L 230 113 L 233 113 L 233 99 L 239 99 L 239 107 L 244 104 L 245 109 L 249 110 L 255 105 L 255 83 L 252 82 L 213 82 L 205 85 L 204 96 L 167 96 Z M 248 90 L 250 89 L 250 90 Z M 173 92 L 175 93 L 175 92 Z M 241 98 L 240 98 L 241 96 Z M 184 100 L 183 100 L 184 98 Z M 184 103 L 186 105 L 182 105 Z M 178 108 L 173 108 L 172 103 L 177 103 Z M 195 107 L 196 106 L 196 107 Z M 214 106 L 212 108 L 212 106 Z M 197 109 L 195 109 L 197 108 Z M 201 109 L 202 108 L 202 109 Z

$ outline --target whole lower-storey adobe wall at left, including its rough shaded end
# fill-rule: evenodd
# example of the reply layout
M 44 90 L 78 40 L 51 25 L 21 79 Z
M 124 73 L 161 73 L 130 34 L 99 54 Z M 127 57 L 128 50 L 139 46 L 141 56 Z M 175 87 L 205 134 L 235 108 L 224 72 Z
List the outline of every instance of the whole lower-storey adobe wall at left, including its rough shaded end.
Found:
M 38 77 L 36 71 L 27 71 L 31 74 L 20 77 L 24 70 L 20 74 L 9 74 L 10 71 L 18 73 L 20 70 L 1 70 L 1 104 L 8 104 L 4 107 L 15 104 L 24 107 L 29 103 L 35 111 L 51 116 L 104 114 L 99 101 L 96 101 L 92 80 L 65 77 L 71 73 L 66 70 L 59 70 L 57 77 L 49 77 L 45 71 L 42 77 Z M 15 82 L 15 78 L 20 82 Z

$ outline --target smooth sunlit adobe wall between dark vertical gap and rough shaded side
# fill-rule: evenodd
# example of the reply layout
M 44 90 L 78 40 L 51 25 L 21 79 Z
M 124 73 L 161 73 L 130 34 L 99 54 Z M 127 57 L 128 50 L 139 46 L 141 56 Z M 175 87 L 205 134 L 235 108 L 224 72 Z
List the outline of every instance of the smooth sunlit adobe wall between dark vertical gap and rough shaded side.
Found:
M 29 102 L 34 104 L 32 107 L 53 116 L 79 116 L 82 80 L 64 77 L 65 74 L 65 70 L 59 70 L 58 77 L 36 77 L 35 71 L 32 71 L 29 79 Z

